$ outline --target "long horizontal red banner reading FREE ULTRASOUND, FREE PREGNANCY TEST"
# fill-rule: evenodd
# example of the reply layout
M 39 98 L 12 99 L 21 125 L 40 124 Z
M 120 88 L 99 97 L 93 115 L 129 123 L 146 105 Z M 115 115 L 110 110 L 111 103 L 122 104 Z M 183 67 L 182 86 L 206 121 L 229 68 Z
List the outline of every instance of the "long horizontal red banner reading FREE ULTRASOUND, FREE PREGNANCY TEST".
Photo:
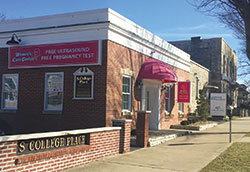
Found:
M 9 69 L 100 64 L 99 41 L 18 46 L 9 49 Z

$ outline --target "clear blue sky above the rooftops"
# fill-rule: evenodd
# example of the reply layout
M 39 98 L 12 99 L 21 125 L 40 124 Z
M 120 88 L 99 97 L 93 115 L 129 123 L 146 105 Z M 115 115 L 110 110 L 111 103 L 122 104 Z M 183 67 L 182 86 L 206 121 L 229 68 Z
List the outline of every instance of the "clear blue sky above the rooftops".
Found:
M 166 41 L 223 37 L 239 54 L 240 41 L 214 17 L 197 12 L 187 0 L 2 0 L 7 19 L 111 8 Z

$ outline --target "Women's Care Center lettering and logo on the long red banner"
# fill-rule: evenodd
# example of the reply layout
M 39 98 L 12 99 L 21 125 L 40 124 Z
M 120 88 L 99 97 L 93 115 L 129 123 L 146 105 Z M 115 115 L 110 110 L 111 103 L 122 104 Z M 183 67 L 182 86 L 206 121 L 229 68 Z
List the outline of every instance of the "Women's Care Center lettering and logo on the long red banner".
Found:
M 11 61 L 13 63 L 36 61 L 39 56 L 40 56 L 40 49 L 36 48 L 34 49 L 33 53 L 32 52 L 26 52 L 26 53 L 16 52 L 15 57 L 13 57 Z

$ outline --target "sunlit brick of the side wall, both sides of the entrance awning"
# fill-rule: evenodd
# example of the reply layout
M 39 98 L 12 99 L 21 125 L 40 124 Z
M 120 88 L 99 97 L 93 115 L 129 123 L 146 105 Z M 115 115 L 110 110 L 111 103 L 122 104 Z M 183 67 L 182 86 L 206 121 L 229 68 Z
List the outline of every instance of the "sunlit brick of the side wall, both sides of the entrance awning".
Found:
M 131 118 L 133 119 L 132 128 L 135 128 L 137 110 L 141 110 L 141 90 L 135 86 L 135 82 L 143 62 L 149 57 L 139 52 L 121 46 L 112 41 L 108 41 L 108 60 L 107 60 L 107 96 L 106 96 L 106 126 L 111 126 L 112 119 Z M 122 76 L 121 68 L 128 68 L 134 72 L 132 77 L 132 116 L 122 116 Z M 189 80 L 189 72 L 173 68 L 179 81 Z M 184 104 L 184 118 L 178 115 L 177 86 L 175 87 L 175 97 L 172 97 L 173 109 L 171 115 L 165 114 L 165 99 L 161 94 L 161 129 L 168 129 L 172 124 L 178 124 L 185 119 L 188 113 L 188 104 Z

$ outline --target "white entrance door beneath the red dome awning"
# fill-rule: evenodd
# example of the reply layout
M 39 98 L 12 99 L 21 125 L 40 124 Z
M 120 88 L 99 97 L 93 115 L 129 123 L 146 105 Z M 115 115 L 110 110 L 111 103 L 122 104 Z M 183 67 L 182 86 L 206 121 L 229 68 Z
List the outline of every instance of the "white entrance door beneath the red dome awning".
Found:
M 160 129 L 160 91 L 158 87 L 146 86 L 145 108 L 151 111 L 149 115 L 149 129 Z

